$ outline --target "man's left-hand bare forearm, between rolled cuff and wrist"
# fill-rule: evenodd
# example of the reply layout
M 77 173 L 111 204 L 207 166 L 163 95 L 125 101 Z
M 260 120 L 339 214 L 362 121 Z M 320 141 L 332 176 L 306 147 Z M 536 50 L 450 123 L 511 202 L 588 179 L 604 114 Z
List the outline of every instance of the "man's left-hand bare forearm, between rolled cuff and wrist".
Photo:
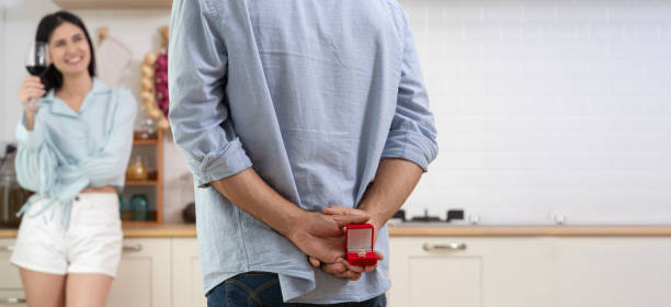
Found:
M 240 209 L 285 237 L 289 236 L 294 221 L 304 213 L 268 185 L 252 168 L 211 184 Z

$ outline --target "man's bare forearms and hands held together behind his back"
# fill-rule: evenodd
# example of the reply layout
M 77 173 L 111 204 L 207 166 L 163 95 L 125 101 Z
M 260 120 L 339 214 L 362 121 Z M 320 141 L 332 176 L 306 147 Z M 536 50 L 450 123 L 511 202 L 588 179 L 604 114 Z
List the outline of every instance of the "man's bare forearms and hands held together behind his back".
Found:
M 372 269 L 362 268 L 356 272 L 354 266 L 348 266 L 342 228 L 348 224 L 367 221 L 373 225 L 374 239 L 377 239 L 379 229 L 410 195 L 421 174 L 422 169 L 413 162 L 383 159 L 373 184 L 360 203 L 361 209 L 328 207 L 323 214 L 303 211 L 268 185 L 251 168 L 211 183 L 240 209 L 294 242 L 311 257 L 312 265 L 338 276 L 357 280 L 361 273 Z M 380 260 L 383 257 L 378 253 Z M 348 270 L 342 270 L 343 266 Z

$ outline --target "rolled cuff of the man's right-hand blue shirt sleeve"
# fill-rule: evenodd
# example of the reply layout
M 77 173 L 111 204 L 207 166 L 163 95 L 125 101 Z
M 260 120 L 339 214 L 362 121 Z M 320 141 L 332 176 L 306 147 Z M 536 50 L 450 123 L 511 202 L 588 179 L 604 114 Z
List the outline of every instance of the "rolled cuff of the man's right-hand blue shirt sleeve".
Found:
M 418 164 L 424 172 L 437 156 L 437 145 L 417 132 L 391 132 L 385 144 L 382 159 L 398 158 Z

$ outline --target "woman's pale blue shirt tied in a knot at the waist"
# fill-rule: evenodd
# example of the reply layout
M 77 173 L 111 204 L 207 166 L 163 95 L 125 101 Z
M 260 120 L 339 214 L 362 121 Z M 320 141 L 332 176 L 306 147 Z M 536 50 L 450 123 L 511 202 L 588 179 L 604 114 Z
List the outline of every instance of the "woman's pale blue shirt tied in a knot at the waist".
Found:
M 16 127 L 19 183 L 36 192 L 20 214 L 48 198 L 35 215 L 64 209 L 62 226 L 67 227 L 71 201 L 83 189 L 124 186 L 137 104 L 130 91 L 111 89 L 98 79 L 78 112 L 55 96 L 54 90 L 39 103 L 33 130 L 26 129 L 25 118 Z

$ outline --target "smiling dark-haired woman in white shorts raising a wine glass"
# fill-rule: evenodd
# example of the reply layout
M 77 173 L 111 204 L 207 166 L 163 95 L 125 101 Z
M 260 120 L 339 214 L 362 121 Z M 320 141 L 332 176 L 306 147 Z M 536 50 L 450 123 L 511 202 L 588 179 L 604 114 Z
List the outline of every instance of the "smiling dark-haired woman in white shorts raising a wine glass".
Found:
M 19 89 L 16 173 L 36 193 L 20 212 L 11 262 L 29 306 L 104 306 L 121 260 L 116 192 L 137 105 L 129 91 L 94 78 L 91 38 L 76 15 L 44 16 L 36 41 L 48 44 L 52 65 Z

